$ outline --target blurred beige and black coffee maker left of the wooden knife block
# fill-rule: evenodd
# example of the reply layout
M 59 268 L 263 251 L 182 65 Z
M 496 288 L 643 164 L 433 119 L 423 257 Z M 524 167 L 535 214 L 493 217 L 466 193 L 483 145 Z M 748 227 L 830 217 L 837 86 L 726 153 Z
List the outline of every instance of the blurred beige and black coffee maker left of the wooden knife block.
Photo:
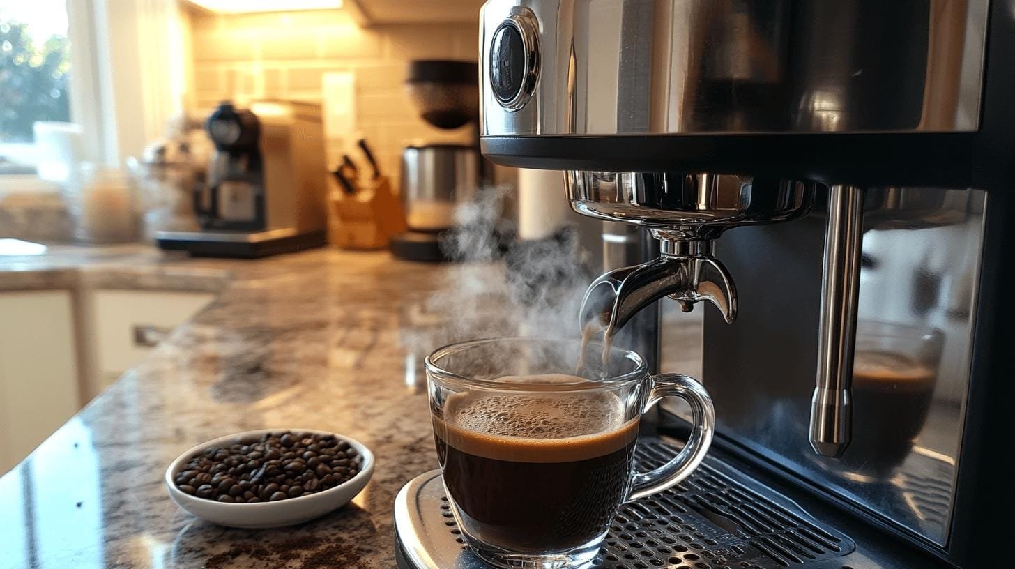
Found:
M 261 257 L 325 244 L 327 169 L 319 105 L 224 102 L 208 118 L 215 145 L 194 210 L 201 231 L 158 232 L 162 249 Z

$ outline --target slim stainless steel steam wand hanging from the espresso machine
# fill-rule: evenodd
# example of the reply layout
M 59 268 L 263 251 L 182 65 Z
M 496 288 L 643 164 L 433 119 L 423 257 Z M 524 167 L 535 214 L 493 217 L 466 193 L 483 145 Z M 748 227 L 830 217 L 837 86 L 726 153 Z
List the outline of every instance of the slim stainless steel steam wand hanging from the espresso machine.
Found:
M 818 328 L 817 385 L 811 397 L 810 440 L 814 451 L 840 456 L 853 430 L 853 347 L 857 334 L 857 295 L 863 241 L 864 190 L 828 190 L 821 315 Z

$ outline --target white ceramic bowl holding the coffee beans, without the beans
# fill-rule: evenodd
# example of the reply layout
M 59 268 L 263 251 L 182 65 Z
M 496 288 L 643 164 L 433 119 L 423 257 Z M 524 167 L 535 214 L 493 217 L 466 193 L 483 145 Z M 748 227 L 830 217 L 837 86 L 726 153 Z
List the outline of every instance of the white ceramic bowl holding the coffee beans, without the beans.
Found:
M 362 457 L 362 467 L 356 476 L 335 488 L 329 488 L 328 490 L 309 496 L 254 504 L 230 504 L 228 502 L 216 502 L 206 498 L 198 498 L 180 490 L 173 482 L 184 465 L 206 448 L 259 440 L 261 435 L 265 433 L 277 433 L 284 430 L 286 429 L 247 431 L 219 437 L 191 448 L 174 460 L 165 470 L 165 486 L 170 489 L 170 497 L 173 498 L 173 501 L 177 505 L 188 512 L 220 525 L 228 525 L 230 527 L 279 527 L 309 521 L 341 508 L 359 494 L 359 491 L 369 482 L 370 476 L 374 475 L 374 453 L 359 441 L 327 431 L 288 429 L 288 431 L 294 434 L 331 435 L 336 439 L 349 443 L 352 448 L 356 449 L 359 456 Z

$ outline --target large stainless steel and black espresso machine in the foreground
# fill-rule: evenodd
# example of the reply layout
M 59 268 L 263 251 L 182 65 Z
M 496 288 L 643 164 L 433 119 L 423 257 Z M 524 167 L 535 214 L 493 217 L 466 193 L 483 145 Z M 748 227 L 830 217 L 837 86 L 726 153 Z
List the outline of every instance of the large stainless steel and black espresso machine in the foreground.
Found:
M 581 323 L 679 372 L 668 326 L 699 316 L 709 456 L 623 506 L 597 566 L 1010 563 L 1015 2 L 488 0 L 480 19 L 483 154 L 563 171 L 547 199 L 626 236 Z M 682 416 L 639 443 L 646 468 Z M 396 501 L 400 563 L 478 567 L 439 492 Z

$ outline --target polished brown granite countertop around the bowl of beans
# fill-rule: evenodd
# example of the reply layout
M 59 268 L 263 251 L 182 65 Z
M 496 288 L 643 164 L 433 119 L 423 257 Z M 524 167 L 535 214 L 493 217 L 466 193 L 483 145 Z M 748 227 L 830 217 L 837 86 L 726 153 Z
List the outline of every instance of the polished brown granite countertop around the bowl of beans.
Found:
M 426 304 L 454 290 L 454 270 L 334 249 L 261 260 L 140 246 L 0 258 L 4 290 L 220 291 L 0 479 L 0 567 L 393 567 L 395 495 L 436 467 L 420 366 L 456 339 Z M 374 451 L 374 478 L 345 508 L 278 529 L 216 526 L 170 500 L 162 475 L 180 453 L 263 428 L 351 436 Z

